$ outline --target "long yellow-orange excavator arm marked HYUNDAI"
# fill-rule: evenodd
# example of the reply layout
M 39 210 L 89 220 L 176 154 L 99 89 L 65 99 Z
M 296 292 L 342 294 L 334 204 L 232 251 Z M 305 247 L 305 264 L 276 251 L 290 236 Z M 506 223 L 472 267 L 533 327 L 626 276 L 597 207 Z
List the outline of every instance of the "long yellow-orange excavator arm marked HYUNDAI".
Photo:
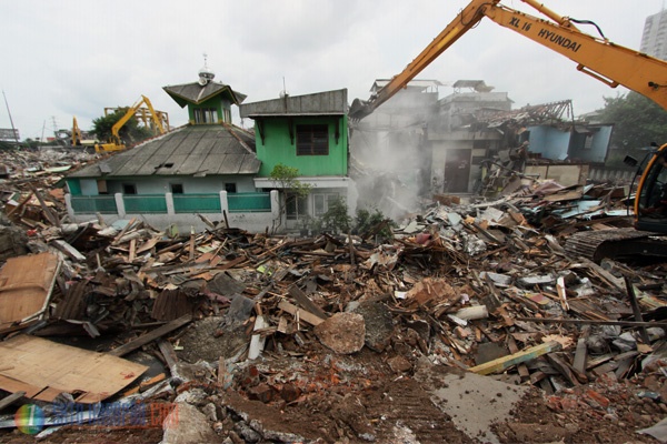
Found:
M 521 1 L 538 10 L 546 19 L 507 8 L 500 4 L 500 0 L 472 0 L 377 95 L 368 101 L 355 99 L 349 117 L 360 120 L 372 113 L 485 17 L 567 57 L 577 63 L 577 70 L 609 87 L 624 85 L 667 109 L 667 62 L 611 43 L 601 34 L 593 37 L 581 32 L 574 24 L 574 19 L 558 16 L 535 0 Z

